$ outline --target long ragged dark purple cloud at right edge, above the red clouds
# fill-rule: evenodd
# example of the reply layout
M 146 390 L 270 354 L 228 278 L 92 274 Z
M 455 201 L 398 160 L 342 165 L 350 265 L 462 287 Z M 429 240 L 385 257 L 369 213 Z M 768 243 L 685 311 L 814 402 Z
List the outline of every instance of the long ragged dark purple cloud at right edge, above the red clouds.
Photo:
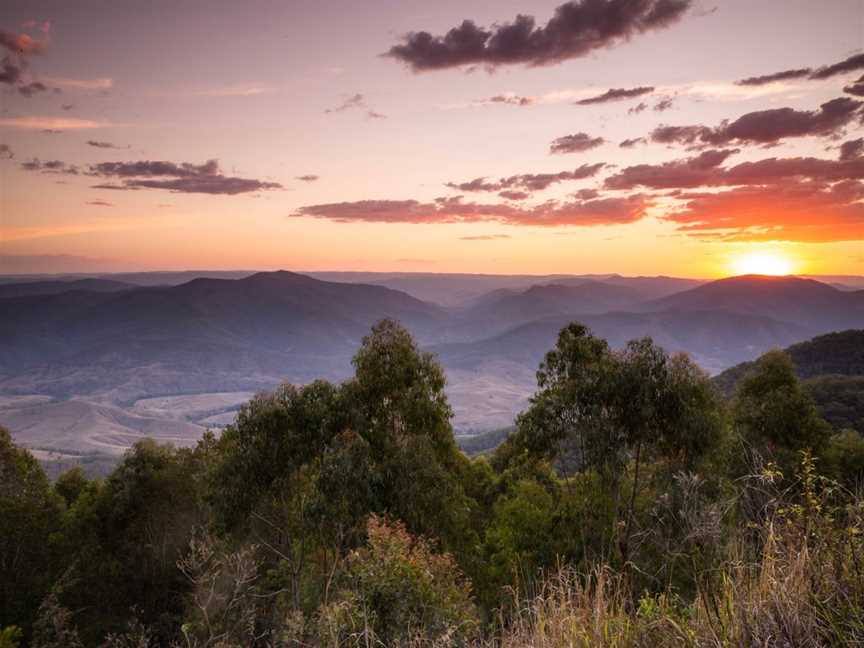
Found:
M 772 108 L 742 115 L 716 128 L 707 126 L 658 126 L 651 140 L 664 144 L 725 146 L 728 144 L 774 145 L 788 137 L 836 136 L 856 117 L 864 102 L 839 97 L 818 110 Z

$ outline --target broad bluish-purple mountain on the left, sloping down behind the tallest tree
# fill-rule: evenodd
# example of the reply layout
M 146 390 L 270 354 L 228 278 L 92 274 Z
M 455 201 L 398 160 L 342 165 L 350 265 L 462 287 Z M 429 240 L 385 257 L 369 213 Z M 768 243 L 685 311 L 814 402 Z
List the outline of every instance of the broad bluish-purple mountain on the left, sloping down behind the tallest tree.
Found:
M 0 321 L 0 389 L 108 390 L 123 400 L 343 376 L 375 321 L 396 318 L 422 340 L 445 316 L 388 288 L 290 272 L 0 305 L 7 314 Z

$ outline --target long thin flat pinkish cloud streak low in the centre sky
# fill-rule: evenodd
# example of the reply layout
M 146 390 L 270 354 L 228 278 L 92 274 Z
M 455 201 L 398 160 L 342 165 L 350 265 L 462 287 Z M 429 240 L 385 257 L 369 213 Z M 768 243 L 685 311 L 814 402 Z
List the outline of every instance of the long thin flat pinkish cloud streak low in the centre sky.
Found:
M 547 201 L 534 207 L 463 202 L 461 196 L 417 200 L 360 200 L 300 207 L 293 217 L 321 218 L 337 223 L 483 223 L 538 227 L 620 225 L 645 216 L 642 195 L 594 200 Z

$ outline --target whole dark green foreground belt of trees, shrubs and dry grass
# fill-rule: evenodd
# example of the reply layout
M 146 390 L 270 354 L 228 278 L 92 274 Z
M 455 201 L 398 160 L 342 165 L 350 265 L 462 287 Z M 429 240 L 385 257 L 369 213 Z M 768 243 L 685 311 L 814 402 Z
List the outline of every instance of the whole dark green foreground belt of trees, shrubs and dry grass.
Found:
M 864 439 L 830 424 L 857 378 L 771 352 L 727 411 L 685 356 L 573 323 L 469 458 L 407 331 L 354 367 L 104 479 L 52 485 L 0 429 L 0 648 L 864 643 Z

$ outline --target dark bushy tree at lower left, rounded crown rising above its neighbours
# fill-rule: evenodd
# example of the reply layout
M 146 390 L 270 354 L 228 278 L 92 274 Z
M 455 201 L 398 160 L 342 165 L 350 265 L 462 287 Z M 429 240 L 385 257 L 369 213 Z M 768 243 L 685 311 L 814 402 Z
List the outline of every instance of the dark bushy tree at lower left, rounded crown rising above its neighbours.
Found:
M 68 584 L 59 598 L 76 611 L 86 644 L 123 631 L 135 606 L 157 643 L 176 638 L 188 590 L 176 563 L 206 520 L 202 470 L 197 451 L 139 441 L 70 507 L 61 537 Z

